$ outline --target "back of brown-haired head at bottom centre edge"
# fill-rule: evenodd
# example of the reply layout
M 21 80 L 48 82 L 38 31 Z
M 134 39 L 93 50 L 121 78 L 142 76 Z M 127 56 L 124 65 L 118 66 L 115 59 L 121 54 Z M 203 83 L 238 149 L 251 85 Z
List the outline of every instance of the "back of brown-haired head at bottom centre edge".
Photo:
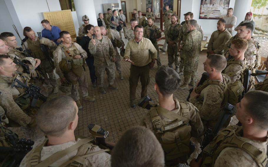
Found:
M 161 144 L 148 128 L 137 126 L 121 136 L 112 151 L 112 167 L 164 167 Z

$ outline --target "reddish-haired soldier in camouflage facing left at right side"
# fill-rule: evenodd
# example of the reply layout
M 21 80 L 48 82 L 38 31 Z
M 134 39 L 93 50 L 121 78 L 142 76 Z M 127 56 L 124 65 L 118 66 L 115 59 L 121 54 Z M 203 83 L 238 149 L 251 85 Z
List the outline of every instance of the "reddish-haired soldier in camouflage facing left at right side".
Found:
M 234 59 L 227 61 L 227 66 L 222 73 L 228 75 L 232 82 L 241 80 L 241 73 L 244 73 L 243 68 L 247 66 L 247 60 L 244 57 L 247 47 L 248 42 L 246 39 L 234 39 L 231 42 L 229 54 L 233 56 Z

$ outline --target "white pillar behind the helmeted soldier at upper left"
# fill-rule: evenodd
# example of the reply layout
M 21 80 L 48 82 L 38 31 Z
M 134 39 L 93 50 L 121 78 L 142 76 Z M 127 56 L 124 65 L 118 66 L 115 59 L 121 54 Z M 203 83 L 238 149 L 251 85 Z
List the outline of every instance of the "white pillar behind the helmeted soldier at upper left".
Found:
M 84 24 L 84 22 L 82 21 L 82 16 L 84 15 L 88 16 L 90 24 L 94 26 L 98 25 L 93 0 L 74 0 L 74 3 L 79 26 Z

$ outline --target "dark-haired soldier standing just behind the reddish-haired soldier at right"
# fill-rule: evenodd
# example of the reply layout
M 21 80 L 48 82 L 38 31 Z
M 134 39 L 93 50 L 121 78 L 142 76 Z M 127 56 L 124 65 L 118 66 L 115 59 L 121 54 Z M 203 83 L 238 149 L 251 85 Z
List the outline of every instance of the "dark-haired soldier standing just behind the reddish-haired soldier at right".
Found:
M 228 50 L 231 46 L 231 41 L 237 38 L 246 39 L 248 41 L 248 47 L 244 56 L 247 59 L 249 65 L 252 66 L 254 69 L 257 69 L 261 62 L 260 60 L 261 56 L 259 55 L 259 52 L 258 52 L 259 45 L 256 41 L 254 41 L 254 38 L 251 36 L 252 30 L 253 30 L 253 25 L 251 23 L 241 24 L 239 26 L 239 30 L 237 31 L 237 34 L 225 43 L 225 45 L 223 46 L 223 49 L 224 49 L 226 58 L 229 59 Z

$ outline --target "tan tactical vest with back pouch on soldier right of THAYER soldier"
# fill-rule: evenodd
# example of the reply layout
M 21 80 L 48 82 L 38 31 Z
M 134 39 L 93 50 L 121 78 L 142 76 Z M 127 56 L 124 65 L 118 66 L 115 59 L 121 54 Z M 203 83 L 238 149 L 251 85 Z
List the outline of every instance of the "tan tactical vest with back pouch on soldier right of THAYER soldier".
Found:
M 235 106 L 236 103 L 238 103 L 239 99 L 241 98 L 241 94 L 244 91 L 243 84 L 240 81 L 235 81 L 234 83 L 231 82 L 231 80 L 228 79 L 226 74 L 222 74 L 223 82 L 217 81 L 217 80 L 211 80 L 207 79 L 202 85 L 199 85 L 195 92 L 197 94 L 201 94 L 201 91 L 206 88 L 209 85 L 217 85 L 221 88 L 223 91 L 224 98 L 221 102 L 221 107 L 223 108 L 226 103 L 230 103 L 231 105 Z M 224 124 L 224 127 L 228 126 L 231 117 L 226 121 Z M 209 127 L 215 127 L 216 123 L 218 121 L 218 117 L 215 117 L 208 121 Z

